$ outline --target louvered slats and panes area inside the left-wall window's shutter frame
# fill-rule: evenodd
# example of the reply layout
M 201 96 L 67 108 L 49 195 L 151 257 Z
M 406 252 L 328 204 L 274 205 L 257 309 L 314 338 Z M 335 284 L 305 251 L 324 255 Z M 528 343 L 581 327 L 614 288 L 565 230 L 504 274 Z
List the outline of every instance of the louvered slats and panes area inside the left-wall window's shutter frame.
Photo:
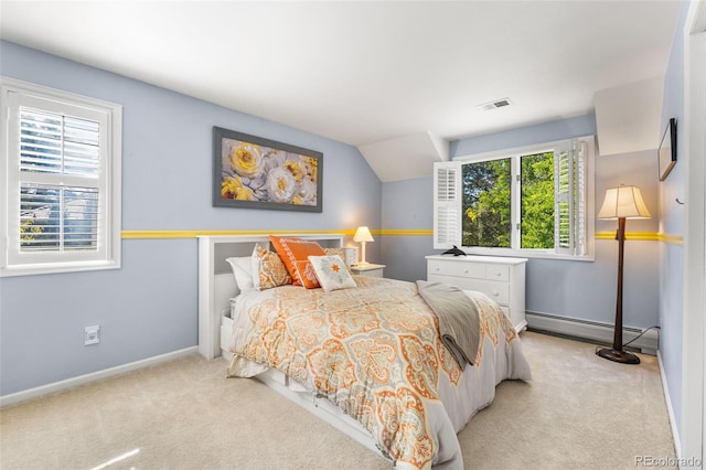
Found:
M 24 106 L 19 117 L 20 253 L 97 250 L 101 122 Z

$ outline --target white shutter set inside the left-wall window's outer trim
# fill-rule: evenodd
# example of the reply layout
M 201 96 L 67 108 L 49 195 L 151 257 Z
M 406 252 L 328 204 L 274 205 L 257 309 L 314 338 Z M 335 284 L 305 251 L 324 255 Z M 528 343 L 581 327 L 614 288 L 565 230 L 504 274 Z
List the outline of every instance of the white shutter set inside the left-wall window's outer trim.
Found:
M 106 113 L 21 93 L 9 102 L 9 264 L 105 260 Z

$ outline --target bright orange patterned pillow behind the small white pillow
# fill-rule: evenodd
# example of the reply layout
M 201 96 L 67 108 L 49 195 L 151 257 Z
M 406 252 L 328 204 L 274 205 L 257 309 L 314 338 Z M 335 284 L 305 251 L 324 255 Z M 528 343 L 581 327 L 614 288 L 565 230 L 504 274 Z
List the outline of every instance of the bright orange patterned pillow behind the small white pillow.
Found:
M 270 235 L 269 241 L 282 258 L 295 286 L 303 286 L 307 289 L 321 287 L 309 261 L 309 256 L 325 256 L 317 242 L 275 235 Z

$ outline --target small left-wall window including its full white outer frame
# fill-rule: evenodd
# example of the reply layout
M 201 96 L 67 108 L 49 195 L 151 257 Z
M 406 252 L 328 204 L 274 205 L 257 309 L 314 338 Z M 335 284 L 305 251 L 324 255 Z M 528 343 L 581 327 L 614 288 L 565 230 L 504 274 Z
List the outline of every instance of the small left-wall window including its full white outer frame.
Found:
M 0 83 L 0 276 L 119 267 L 121 107 Z

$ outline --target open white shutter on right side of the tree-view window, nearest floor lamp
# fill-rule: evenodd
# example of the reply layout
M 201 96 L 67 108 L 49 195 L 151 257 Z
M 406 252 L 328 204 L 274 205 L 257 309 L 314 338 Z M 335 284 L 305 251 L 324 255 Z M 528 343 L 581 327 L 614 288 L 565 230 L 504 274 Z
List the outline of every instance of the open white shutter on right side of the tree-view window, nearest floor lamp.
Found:
M 586 254 L 586 142 L 567 140 L 554 157 L 554 246 L 556 253 Z

